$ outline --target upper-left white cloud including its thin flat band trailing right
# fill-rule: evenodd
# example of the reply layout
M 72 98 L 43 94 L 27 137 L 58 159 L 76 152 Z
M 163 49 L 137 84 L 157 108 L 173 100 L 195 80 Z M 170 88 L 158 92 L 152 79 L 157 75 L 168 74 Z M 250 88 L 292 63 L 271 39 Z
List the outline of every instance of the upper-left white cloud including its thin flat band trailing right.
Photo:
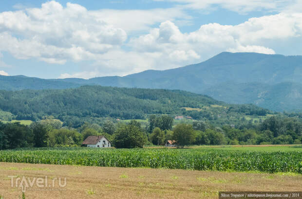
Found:
M 164 20 L 189 19 L 180 8 L 88 11 L 79 4 L 47 1 L 40 8 L 16 4 L 15 12 L 0 13 L 0 51 L 18 59 L 65 64 L 98 60 L 117 52 L 126 31 L 142 31 Z M 126 30 L 126 31 L 125 31 Z

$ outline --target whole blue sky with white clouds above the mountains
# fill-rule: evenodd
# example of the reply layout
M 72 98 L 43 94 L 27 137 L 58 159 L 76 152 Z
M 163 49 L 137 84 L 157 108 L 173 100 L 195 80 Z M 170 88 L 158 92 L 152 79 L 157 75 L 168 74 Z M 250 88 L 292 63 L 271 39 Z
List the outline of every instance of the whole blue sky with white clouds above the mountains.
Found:
M 1 0 L 0 75 L 124 76 L 221 52 L 302 55 L 302 0 Z

